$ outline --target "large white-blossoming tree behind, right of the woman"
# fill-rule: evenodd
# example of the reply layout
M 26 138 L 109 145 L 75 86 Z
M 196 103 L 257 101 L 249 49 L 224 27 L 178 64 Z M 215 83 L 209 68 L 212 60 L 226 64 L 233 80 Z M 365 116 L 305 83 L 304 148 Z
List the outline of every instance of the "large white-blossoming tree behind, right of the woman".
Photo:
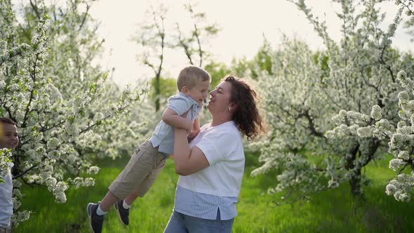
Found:
M 392 24 L 382 29 L 385 14 L 378 2 L 334 2 L 342 6 L 339 43 L 330 38 L 325 23 L 305 1 L 294 1 L 326 50 L 315 53 L 300 41 L 286 39 L 272 53 L 272 72 L 258 77 L 272 132 L 262 148 L 264 164 L 253 175 L 279 171 L 270 192 L 284 190 L 282 202 L 307 199 L 345 181 L 353 195 L 362 196 L 369 181 L 363 168 L 387 152 L 384 138 L 399 121 L 396 74 L 401 69 L 414 72 L 412 56 L 391 46 L 402 7 Z M 377 121 L 379 112 L 388 119 L 381 126 L 386 135 L 362 126 Z M 332 136 L 333 128 L 341 137 Z

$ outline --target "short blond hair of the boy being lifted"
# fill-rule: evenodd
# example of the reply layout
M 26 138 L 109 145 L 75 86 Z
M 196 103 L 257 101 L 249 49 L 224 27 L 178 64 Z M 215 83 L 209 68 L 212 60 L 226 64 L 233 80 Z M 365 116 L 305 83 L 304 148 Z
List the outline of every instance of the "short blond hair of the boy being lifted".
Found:
M 177 88 L 178 91 L 181 91 L 183 86 L 187 86 L 188 88 L 192 88 L 196 86 L 199 81 L 210 81 L 211 76 L 206 72 L 206 70 L 196 67 L 196 66 L 189 66 L 185 67 L 181 70 L 180 74 L 178 74 L 177 79 Z

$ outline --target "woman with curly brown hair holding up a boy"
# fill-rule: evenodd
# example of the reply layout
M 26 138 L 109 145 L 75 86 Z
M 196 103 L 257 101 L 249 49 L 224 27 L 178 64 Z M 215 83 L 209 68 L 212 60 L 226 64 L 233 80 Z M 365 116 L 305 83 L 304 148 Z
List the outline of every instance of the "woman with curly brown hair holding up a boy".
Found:
M 248 84 L 227 76 L 210 93 L 213 121 L 190 143 L 175 129 L 174 163 L 180 174 L 174 211 L 164 232 L 232 232 L 244 171 L 241 133 L 248 140 L 264 131 Z

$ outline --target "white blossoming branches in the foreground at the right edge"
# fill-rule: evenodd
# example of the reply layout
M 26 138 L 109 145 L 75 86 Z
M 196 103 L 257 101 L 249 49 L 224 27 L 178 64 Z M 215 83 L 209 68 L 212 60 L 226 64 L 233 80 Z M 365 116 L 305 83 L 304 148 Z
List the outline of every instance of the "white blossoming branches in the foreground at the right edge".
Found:
M 409 93 L 413 93 L 414 81 L 403 71 L 399 72 L 397 79 L 403 89 L 398 94 L 398 124 L 392 124 L 392 121 L 382 118 L 383 111 L 379 105 L 374 105 L 369 115 L 342 109 L 333 117 L 337 127 L 328 131 L 326 135 L 336 140 L 356 137 L 359 140 L 370 138 L 378 142 L 388 142 L 388 152 L 394 156 L 394 159 L 389 161 L 389 168 L 398 170 L 398 174 L 389 181 L 386 193 L 394 195 L 398 201 L 410 201 L 414 186 L 414 100 L 410 100 L 413 97 Z M 404 173 L 404 170 L 408 170 L 407 167 L 410 174 L 407 171 Z

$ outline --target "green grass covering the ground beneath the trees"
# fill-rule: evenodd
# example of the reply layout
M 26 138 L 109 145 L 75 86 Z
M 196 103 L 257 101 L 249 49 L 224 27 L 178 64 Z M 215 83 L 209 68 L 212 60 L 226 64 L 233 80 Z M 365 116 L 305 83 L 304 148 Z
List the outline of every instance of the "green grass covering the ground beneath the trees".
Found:
M 88 232 L 86 205 L 102 199 L 107 186 L 127 163 L 127 159 L 99 162 L 102 170 L 95 187 L 69 189 L 67 203 L 55 204 L 43 189 L 31 189 L 23 209 L 31 209 L 32 218 L 15 227 L 14 232 Z M 246 154 L 246 173 L 237 204 L 233 232 L 414 232 L 414 201 L 401 203 L 385 194 L 385 184 L 394 173 L 387 161 L 370 164 L 366 174 L 373 179 L 366 189 L 366 201 L 354 201 L 349 185 L 316 194 L 311 202 L 275 206 L 276 196 L 267 194 L 274 175 L 252 178 L 249 172 L 257 157 Z M 173 161 L 159 175 L 143 199 L 135 201 L 128 227 L 119 222 L 114 209 L 107 214 L 103 232 L 163 232 L 172 213 L 175 184 Z

